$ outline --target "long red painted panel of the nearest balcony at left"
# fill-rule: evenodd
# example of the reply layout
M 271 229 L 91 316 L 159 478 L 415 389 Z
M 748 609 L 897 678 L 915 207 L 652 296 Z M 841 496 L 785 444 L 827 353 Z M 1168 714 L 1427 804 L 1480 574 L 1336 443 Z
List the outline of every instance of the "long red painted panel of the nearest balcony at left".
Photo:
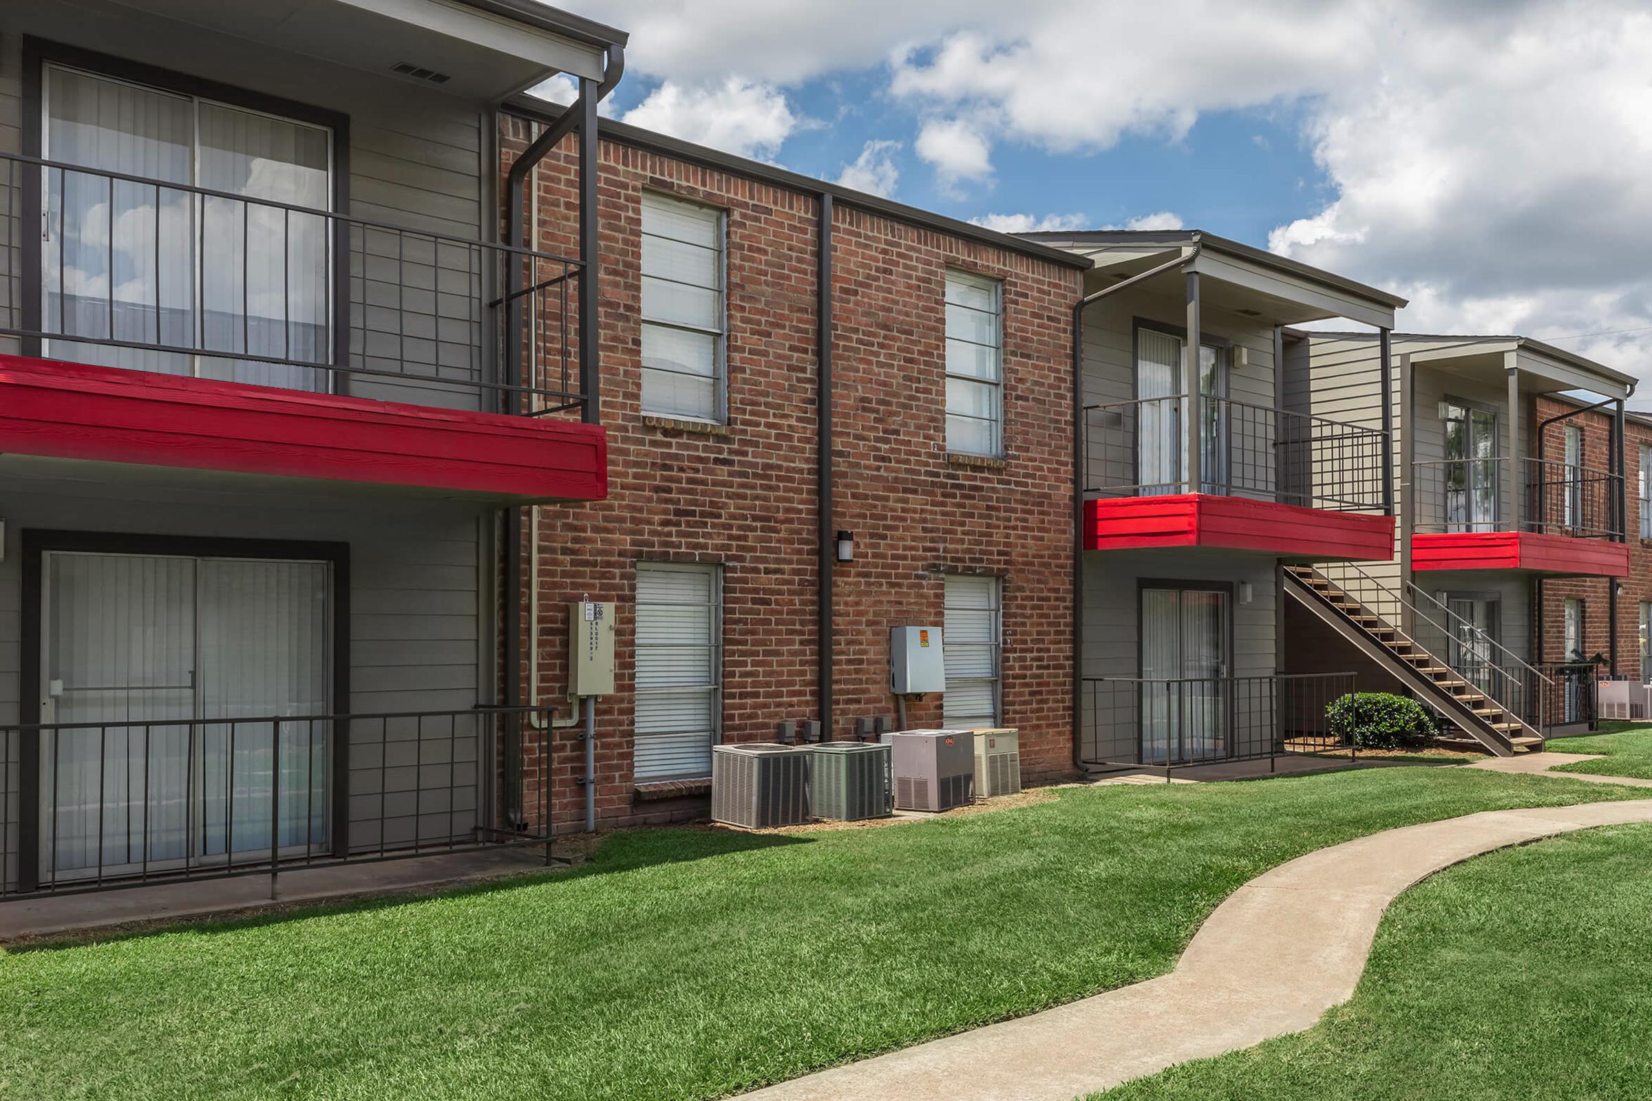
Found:
M 367 401 L 0 355 L 0 452 L 601 500 L 596 424 Z

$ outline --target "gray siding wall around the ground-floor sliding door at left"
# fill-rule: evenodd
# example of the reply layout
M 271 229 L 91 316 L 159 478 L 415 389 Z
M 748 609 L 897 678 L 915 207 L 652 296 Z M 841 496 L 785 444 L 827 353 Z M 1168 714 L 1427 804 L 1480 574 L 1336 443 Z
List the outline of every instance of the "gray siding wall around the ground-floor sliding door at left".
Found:
M 21 685 L 21 533 L 25 528 L 99 530 L 230 538 L 330 540 L 350 545 L 350 698 L 340 710 L 466 710 L 491 698 L 491 513 L 439 500 L 383 494 L 302 495 L 246 489 L 167 489 L 134 474 L 0 479 L 5 560 L 0 561 L 0 723 L 18 713 Z M 378 843 L 380 796 L 395 822 L 388 840 L 411 835 L 415 806 L 426 837 L 459 827 L 481 797 L 487 746 L 476 720 L 360 723 L 352 733 L 352 843 Z M 5 868 L 15 877 L 15 735 L 5 746 Z M 420 768 L 423 766 L 423 768 Z

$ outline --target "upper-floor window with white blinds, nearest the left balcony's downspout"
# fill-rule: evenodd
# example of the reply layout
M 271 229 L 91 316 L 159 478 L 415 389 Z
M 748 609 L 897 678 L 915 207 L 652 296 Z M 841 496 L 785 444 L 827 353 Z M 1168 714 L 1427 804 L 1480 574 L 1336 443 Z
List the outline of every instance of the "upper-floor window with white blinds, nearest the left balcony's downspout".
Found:
M 643 413 L 724 419 L 724 216 L 643 193 Z

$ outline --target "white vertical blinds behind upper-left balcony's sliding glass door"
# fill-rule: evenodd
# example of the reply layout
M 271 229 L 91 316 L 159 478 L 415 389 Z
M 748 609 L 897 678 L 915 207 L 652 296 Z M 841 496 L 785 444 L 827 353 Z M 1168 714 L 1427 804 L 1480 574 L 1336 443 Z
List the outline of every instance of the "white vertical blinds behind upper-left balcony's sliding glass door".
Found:
M 329 358 L 325 218 L 164 187 L 327 210 L 329 130 L 48 66 L 45 137 L 51 160 L 157 182 L 46 173 L 48 332 Z M 144 348 L 74 345 L 74 357 L 299 390 L 325 381 L 314 368 Z

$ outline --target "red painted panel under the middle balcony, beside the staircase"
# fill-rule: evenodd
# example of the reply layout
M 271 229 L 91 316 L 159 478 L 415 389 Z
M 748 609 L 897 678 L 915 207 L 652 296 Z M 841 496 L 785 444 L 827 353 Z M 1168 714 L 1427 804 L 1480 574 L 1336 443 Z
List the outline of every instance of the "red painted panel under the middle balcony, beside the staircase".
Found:
M 1394 518 L 1209 494 L 1084 502 L 1084 550 L 1158 546 L 1211 546 L 1315 561 L 1384 561 L 1394 555 Z

